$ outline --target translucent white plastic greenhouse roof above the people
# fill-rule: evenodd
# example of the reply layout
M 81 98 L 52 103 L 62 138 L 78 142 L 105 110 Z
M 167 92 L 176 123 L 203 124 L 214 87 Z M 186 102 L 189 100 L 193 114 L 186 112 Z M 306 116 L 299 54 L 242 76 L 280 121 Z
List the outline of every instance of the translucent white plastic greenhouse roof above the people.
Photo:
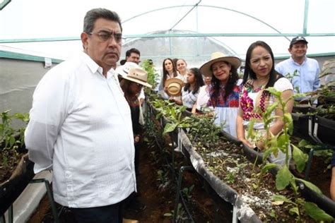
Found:
M 335 55 L 334 0 L 16 0 L 0 11 L 0 46 L 66 59 L 82 49 L 83 17 L 91 8 L 119 14 L 127 49 L 139 38 L 186 38 L 184 47 L 196 47 L 187 38 L 210 37 L 242 59 L 256 40 L 267 42 L 281 57 L 289 55 L 290 39 L 301 35 L 309 42 L 307 54 Z M 153 50 L 141 57 L 156 54 Z M 170 49 L 164 54 L 183 56 Z

